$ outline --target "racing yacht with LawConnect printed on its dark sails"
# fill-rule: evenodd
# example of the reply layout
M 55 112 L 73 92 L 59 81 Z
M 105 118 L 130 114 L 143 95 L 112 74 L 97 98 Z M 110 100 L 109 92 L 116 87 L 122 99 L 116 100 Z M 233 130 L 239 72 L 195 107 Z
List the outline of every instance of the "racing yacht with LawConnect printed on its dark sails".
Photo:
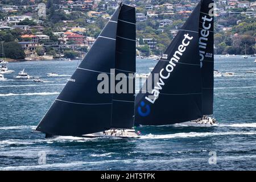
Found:
M 135 124 L 209 121 L 204 115 L 210 114 L 213 114 L 213 1 L 201 0 L 137 94 Z

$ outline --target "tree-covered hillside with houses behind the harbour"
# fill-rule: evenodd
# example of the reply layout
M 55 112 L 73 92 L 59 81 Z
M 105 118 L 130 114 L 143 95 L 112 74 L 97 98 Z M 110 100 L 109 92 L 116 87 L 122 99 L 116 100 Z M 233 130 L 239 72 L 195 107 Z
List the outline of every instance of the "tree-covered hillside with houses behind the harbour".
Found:
M 136 7 L 137 54 L 159 55 L 192 13 L 196 0 L 122 1 Z M 121 1 L 0 1 L 0 52 L 13 60 L 79 59 Z M 255 51 L 256 2 L 218 0 L 214 7 L 214 51 Z M 2 50 L 2 47 L 4 50 Z M 15 53 L 14 53 L 15 52 Z M 2 53 L 3 56 L 3 53 Z

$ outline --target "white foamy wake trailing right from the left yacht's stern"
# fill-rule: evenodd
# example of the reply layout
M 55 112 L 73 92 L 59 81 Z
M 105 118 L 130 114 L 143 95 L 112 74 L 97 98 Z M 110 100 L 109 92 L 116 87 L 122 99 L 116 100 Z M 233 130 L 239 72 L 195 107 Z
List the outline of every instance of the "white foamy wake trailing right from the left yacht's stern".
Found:
M 141 136 L 140 139 L 170 139 L 170 138 L 193 138 L 193 137 L 212 137 L 218 135 L 256 135 L 255 131 L 247 131 L 247 132 L 237 132 L 237 131 L 230 131 L 230 132 L 220 132 L 220 133 L 175 133 L 175 134 L 166 134 L 166 135 L 144 135 Z

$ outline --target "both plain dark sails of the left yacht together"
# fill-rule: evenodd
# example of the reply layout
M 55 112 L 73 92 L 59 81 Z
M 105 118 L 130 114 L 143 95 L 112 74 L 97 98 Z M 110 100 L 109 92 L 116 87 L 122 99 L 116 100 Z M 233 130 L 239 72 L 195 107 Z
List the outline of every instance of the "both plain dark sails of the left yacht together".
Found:
M 49 135 L 80 136 L 110 129 L 112 125 L 133 127 L 134 104 L 130 103 L 134 97 L 97 90 L 100 73 L 110 76 L 110 69 L 115 68 L 119 72 L 135 72 L 135 46 L 127 39 L 135 40 L 135 9 L 120 5 L 36 130 Z M 127 101 L 127 105 L 121 101 Z M 118 121 L 115 113 L 123 114 L 122 109 L 129 112 L 123 115 L 123 121 Z

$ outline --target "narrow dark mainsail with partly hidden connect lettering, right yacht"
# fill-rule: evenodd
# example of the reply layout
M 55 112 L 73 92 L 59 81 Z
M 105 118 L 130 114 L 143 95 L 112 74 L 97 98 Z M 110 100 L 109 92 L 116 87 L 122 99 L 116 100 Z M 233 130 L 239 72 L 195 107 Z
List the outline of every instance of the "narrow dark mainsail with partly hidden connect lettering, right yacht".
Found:
M 213 114 L 213 3 L 203 0 L 199 22 L 199 54 L 202 74 L 203 114 Z

